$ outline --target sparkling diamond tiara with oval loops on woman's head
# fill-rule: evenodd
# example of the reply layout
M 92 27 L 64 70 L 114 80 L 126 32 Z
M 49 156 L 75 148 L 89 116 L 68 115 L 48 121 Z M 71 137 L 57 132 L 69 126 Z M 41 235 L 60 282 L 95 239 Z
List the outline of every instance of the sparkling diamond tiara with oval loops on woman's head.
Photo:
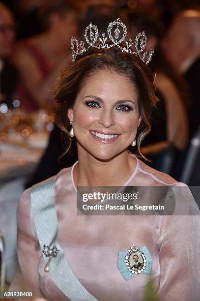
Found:
M 153 49 L 151 49 L 149 52 L 144 51 L 144 48 L 146 46 L 146 35 L 143 32 L 139 32 L 136 35 L 135 42 L 132 41 L 131 38 L 125 40 L 127 35 L 127 27 L 126 25 L 118 18 L 114 20 L 113 22 L 109 23 L 109 26 L 107 28 L 108 36 L 106 36 L 105 33 L 102 33 L 101 37 L 99 36 L 99 31 L 96 25 L 93 25 L 90 23 L 85 30 L 85 39 L 88 47 L 85 47 L 85 42 L 80 41 L 80 44 L 78 43 L 78 40 L 76 37 L 72 36 L 71 38 L 71 49 L 72 49 L 72 61 L 74 62 L 76 60 L 76 57 L 78 55 L 82 55 L 83 53 L 87 52 L 90 47 L 94 47 L 97 49 L 105 48 L 109 49 L 111 47 L 117 47 L 122 52 L 127 52 L 131 54 L 136 54 L 138 57 L 146 64 L 148 64 L 151 60 L 152 54 L 154 52 Z M 122 37 L 120 38 L 120 35 Z M 113 42 L 113 44 L 107 44 L 108 38 Z M 99 45 L 95 45 L 97 39 L 99 39 Z M 126 43 L 126 47 L 122 47 L 120 44 Z M 135 44 L 135 51 L 132 49 L 132 46 Z

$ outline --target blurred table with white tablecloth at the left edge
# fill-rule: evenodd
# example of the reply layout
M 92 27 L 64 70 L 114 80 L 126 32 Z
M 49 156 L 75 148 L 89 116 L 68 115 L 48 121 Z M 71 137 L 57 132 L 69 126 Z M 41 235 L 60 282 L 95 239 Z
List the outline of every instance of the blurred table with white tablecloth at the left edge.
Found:
M 17 205 L 47 142 L 45 133 L 32 135 L 24 146 L 0 141 L 0 231 L 5 240 L 6 280 L 9 282 L 17 269 Z

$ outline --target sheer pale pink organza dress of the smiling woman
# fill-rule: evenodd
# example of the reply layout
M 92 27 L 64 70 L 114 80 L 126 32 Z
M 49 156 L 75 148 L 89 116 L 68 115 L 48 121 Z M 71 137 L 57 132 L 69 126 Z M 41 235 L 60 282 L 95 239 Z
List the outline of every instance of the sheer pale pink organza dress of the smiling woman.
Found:
M 77 215 L 75 164 L 55 177 L 57 241 L 86 291 L 99 301 L 143 301 L 150 276 L 141 273 L 125 281 L 117 268 L 118 252 L 134 243 L 146 246 L 151 255 L 151 277 L 160 301 L 200 301 L 200 216 L 189 188 L 137 159 L 137 167 L 125 186 L 185 186 L 184 197 L 197 215 Z M 177 192 L 175 197 L 181 202 L 183 196 Z M 44 271 L 30 188 L 22 195 L 17 220 L 20 271 L 10 290 L 32 291 L 35 297 L 47 300 L 69 300 L 50 273 Z

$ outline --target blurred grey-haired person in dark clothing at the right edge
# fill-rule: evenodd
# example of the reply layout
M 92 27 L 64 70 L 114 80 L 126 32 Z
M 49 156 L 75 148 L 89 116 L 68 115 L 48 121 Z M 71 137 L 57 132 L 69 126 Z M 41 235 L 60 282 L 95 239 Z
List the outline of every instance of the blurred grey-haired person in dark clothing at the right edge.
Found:
M 190 138 L 200 125 L 200 10 L 179 13 L 164 40 L 165 52 L 184 75 L 192 97 L 189 109 Z

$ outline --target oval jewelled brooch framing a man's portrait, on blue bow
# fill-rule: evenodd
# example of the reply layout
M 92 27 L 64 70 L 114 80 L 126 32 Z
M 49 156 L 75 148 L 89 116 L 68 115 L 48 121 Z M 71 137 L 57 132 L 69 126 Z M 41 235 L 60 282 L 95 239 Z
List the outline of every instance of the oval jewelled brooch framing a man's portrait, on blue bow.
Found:
M 131 244 L 125 256 L 126 268 L 133 274 L 141 274 L 146 269 L 146 257 L 143 251 Z

